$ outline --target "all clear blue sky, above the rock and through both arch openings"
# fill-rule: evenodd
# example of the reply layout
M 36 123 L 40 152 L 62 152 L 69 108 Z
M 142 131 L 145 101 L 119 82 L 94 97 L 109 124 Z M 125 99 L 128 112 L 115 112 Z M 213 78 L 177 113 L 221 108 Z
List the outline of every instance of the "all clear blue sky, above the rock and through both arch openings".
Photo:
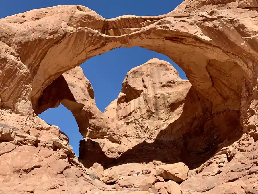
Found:
M 2 0 L 0 1 L 0 18 L 55 5 L 84 5 L 104 18 L 115 18 L 126 14 L 156 16 L 172 11 L 181 2 L 182 0 Z M 167 56 L 140 47 L 114 49 L 81 64 L 85 76 L 93 86 L 97 107 L 104 111 L 107 105 L 118 97 L 126 73 L 155 57 L 173 64 L 180 77 L 186 79 L 181 68 Z M 82 136 L 71 112 L 60 105 L 58 108 L 46 110 L 39 116 L 49 124 L 58 126 L 67 134 L 69 143 L 78 156 L 79 141 Z

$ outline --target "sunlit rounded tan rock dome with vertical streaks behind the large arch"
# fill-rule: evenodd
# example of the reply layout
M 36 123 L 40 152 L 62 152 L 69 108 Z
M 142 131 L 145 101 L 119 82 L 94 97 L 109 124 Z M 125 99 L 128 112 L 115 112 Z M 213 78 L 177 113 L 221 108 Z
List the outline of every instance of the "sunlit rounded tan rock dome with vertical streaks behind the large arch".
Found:
M 133 68 L 122 83 L 113 114 L 118 131 L 131 139 L 157 139 L 180 116 L 190 87 L 171 64 L 157 58 Z

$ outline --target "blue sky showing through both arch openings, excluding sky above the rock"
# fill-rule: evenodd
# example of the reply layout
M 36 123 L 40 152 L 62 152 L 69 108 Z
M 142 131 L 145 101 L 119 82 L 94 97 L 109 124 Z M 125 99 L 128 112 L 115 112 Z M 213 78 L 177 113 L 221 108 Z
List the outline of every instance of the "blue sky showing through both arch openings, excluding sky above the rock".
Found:
M 182 79 L 187 79 L 185 72 L 169 57 L 161 53 L 143 49 L 141 47 L 116 48 L 88 59 L 80 65 L 84 75 L 91 82 L 96 105 L 104 112 L 105 108 L 118 97 L 126 73 L 132 68 L 144 64 L 152 58 L 171 63 L 179 72 Z M 69 137 L 69 144 L 76 155 L 79 155 L 79 141 L 83 138 L 79 132 L 73 114 L 63 105 L 51 108 L 38 115 L 47 123 L 56 125 Z

